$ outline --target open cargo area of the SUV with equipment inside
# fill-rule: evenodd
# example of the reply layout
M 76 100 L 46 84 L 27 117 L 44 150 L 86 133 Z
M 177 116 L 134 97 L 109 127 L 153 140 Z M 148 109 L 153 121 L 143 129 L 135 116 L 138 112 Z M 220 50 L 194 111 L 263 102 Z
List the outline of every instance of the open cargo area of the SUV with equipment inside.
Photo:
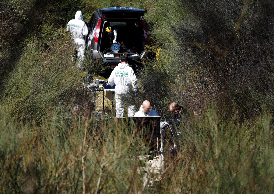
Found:
M 127 54 L 139 59 L 144 51 L 142 26 L 136 22 L 105 22 L 100 42 L 100 52 L 107 58 L 120 58 Z

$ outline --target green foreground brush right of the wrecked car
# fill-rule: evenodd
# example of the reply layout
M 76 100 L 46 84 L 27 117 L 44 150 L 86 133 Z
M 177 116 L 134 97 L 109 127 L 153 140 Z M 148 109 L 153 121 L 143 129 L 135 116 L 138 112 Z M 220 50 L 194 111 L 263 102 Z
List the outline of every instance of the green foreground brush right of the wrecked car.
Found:
M 175 167 L 171 181 L 166 180 L 168 192 L 271 193 L 270 120 L 265 114 L 256 122 L 227 123 L 214 109 L 193 118 L 182 130 L 183 150 L 177 158 L 181 166 Z

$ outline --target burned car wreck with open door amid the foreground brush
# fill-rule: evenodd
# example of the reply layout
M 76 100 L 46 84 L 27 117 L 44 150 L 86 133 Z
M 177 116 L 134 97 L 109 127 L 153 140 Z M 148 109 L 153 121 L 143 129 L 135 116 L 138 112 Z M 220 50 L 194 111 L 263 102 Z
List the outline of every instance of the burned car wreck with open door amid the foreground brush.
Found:
M 160 181 L 168 161 L 176 154 L 174 133 L 169 125 L 161 128 L 161 118 L 157 116 L 108 118 L 100 121 L 109 123 L 107 127 L 111 130 L 113 119 L 128 126 L 130 135 L 135 137 L 131 145 L 134 146 L 135 154 L 129 157 L 138 164 L 137 171 L 143 185 L 152 186 L 155 181 Z

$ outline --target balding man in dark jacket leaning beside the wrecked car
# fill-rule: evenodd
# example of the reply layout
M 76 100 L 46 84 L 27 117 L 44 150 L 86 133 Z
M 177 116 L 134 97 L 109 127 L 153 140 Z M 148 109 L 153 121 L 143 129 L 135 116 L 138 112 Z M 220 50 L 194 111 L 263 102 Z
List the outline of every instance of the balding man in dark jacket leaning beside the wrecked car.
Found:
M 167 123 L 170 124 L 172 130 L 176 131 L 176 128 L 184 123 L 187 112 L 176 102 L 172 102 L 170 104 L 169 111 L 173 114 L 173 116 L 167 121 Z

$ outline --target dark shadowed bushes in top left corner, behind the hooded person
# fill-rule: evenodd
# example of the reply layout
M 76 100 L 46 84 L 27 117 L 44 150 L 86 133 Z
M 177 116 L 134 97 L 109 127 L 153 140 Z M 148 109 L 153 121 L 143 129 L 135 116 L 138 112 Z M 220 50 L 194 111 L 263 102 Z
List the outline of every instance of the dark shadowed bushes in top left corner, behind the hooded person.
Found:
M 83 9 L 83 4 L 81 0 L 2 0 L 0 9 L 0 48 L 3 50 L 16 49 L 30 35 L 44 38 L 54 28 L 65 27 L 68 20 L 74 19 L 76 11 Z

